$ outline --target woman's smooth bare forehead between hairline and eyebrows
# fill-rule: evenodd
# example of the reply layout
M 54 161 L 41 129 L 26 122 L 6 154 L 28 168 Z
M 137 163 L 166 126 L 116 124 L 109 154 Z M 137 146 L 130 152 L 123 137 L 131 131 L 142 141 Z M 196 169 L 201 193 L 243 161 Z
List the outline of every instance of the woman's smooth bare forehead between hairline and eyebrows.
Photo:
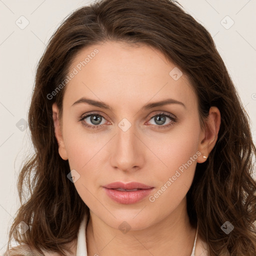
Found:
M 118 107 L 130 107 L 133 99 L 141 99 L 142 103 L 167 96 L 196 103 L 186 75 L 148 45 L 116 41 L 91 45 L 76 54 L 69 72 L 74 70 L 76 74 L 67 83 L 64 95 L 68 103 L 82 96 L 116 103 Z

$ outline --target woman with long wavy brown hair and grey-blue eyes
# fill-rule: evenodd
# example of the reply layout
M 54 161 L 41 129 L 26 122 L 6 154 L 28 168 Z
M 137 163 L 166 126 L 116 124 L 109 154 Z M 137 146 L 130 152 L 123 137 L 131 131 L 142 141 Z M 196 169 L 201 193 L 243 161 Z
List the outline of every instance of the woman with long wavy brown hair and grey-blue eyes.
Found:
M 173 2 L 74 11 L 28 120 L 31 196 L 6 254 L 255 255 L 248 116 L 210 34 Z

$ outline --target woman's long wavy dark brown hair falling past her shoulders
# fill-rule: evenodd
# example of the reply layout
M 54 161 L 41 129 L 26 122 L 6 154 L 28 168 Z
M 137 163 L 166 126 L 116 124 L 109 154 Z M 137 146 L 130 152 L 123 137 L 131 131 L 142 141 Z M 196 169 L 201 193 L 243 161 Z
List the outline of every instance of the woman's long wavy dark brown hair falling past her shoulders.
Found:
M 256 149 L 249 117 L 209 32 L 180 6 L 169 0 L 101 0 L 72 12 L 58 27 L 37 65 L 28 112 L 35 154 L 18 177 L 21 206 L 9 232 L 36 255 L 40 248 L 65 255 L 76 239 L 88 207 L 67 178 L 68 160 L 58 154 L 52 104 L 62 109 L 67 76 L 74 56 L 84 47 L 105 41 L 143 43 L 160 50 L 189 77 L 198 97 L 200 121 L 210 106 L 221 113 L 218 138 L 208 159 L 196 165 L 187 192 L 190 223 L 208 245 L 209 256 L 256 255 L 256 182 L 252 178 Z M 49 96 L 53 95 L 54 96 Z M 203 123 L 203 122 L 202 122 Z M 24 191 L 30 195 L 25 199 Z M 20 235 L 16 226 L 30 228 Z M 221 225 L 234 229 L 226 234 Z

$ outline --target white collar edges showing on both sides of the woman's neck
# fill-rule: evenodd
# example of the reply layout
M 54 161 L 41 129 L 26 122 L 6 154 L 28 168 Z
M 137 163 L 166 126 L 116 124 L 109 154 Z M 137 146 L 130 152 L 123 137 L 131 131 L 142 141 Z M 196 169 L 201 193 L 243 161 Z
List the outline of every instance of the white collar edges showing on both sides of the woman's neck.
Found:
M 87 256 L 87 246 L 86 246 L 86 238 L 85 238 L 86 221 L 87 221 L 87 218 L 86 218 L 86 214 L 85 214 L 85 217 L 81 221 L 81 224 L 80 224 L 79 230 L 78 230 L 78 234 L 77 234 L 77 245 L 76 245 L 75 256 Z M 198 225 L 196 228 L 192 253 L 190 256 L 194 256 L 197 231 L 198 231 Z

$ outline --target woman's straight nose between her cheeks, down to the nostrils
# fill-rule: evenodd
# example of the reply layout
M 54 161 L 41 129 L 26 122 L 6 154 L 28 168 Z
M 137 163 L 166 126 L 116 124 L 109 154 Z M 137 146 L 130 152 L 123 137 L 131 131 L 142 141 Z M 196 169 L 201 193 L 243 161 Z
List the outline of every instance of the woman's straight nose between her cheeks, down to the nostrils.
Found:
M 126 131 L 117 127 L 117 133 L 111 141 L 110 164 L 116 170 L 137 171 L 144 164 L 145 151 L 145 145 L 133 125 Z

